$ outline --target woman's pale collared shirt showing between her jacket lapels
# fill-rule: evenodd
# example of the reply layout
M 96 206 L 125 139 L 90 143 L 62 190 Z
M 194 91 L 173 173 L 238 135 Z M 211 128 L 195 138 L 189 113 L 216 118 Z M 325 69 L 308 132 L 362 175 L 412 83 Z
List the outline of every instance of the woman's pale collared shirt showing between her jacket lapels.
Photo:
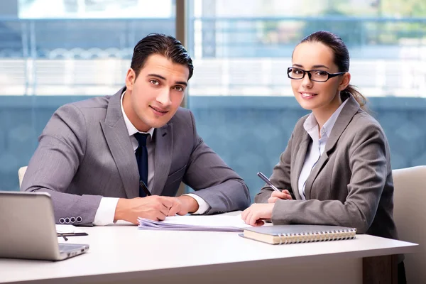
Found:
M 305 120 L 305 123 L 303 124 L 303 128 L 306 130 L 306 132 L 311 136 L 312 143 L 309 143 L 309 146 L 307 147 L 306 155 L 305 155 L 305 162 L 303 162 L 302 171 L 300 172 L 299 176 L 299 194 L 300 197 L 302 197 L 302 200 L 306 200 L 305 197 L 305 183 L 307 178 L 309 177 L 312 169 L 317 164 L 318 160 L 320 160 L 320 157 L 322 153 L 324 152 L 325 145 L 328 141 L 328 138 L 330 136 L 330 133 L 332 133 L 332 129 L 334 124 L 337 121 L 337 117 L 340 114 L 340 111 L 342 111 L 344 104 L 346 104 L 346 101 L 343 102 L 343 104 L 340 105 L 336 111 L 330 116 L 330 118 L 325 122 L 325 124 L 321 128 L 321 138 L 320 133 L 318 131 L 318 123 L 317 119 L 315 119 L 315 116 L 313 113 L 310 114 L 310 116 L 307 116 L 307 119 Z

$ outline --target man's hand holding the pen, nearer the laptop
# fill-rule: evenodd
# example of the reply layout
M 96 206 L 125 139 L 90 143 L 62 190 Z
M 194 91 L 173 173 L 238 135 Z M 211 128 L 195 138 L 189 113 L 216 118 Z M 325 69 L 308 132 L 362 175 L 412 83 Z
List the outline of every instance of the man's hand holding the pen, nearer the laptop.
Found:
M 114 221 L 124 220 L 138 224 L 138 217 L 163 221 L 169 215 L 173 201 L 170 197 L 152 195 L 147 197 L 136 197 L 130 200 L 120 198 L 117 203 Z

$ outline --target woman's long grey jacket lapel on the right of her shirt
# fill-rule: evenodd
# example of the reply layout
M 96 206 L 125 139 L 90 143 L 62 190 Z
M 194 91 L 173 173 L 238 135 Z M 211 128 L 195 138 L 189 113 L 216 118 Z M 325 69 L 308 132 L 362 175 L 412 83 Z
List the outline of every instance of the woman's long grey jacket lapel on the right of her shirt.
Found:
M 317 178 L 317 175 L 327 163 L 327 160 L 329 160 L 329 153 L 333 150 L 334 146 L 336 146 L 337 141 L 339 141 L 340 136 L 342 136 L 343 131 L 349 125 L 356 112 L 359 111 L 359 104 L 356 102 L 354 97 L 349 95 L 347 100 L 348 102 L 346 102 L 344 105 L 336 123 L 333 126 L 330 137 L 328 138 L 327 144 L 325 145 L 324 153 L 322 153 L 320 160 L 318 160 L 317 164 L 312 169 L 312 172 L 306 180 L 305 196 L 307 200 L 310 199 L 310 192 L 312 190 L 312 184 L 314 183 L 315 178 Z

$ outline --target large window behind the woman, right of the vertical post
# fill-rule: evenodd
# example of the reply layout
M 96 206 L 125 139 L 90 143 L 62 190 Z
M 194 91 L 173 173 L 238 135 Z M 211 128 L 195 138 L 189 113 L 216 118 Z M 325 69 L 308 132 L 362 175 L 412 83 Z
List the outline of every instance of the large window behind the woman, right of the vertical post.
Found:
M 295 45 L 314 31 L 348 45 L 351 83 L 388 136 L 393 168 L 426 164 L 426 11 L 412 17 L 414 6 L 396 2 L 189 1 L 188 104 L 200 135 L 246 180 L 252 200 L 263 186 L 256 173 L 271 175 L 307 114 L 286 72 Z

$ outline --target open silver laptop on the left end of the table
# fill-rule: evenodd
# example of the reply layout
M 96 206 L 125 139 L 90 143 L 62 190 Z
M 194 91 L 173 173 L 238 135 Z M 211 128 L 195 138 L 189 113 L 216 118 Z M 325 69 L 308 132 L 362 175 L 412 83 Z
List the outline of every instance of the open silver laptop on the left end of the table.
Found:
M 0 258 L 62 261 L 85 253 L 87 244 L 59 244 L 47 192 L 0 191 Z

